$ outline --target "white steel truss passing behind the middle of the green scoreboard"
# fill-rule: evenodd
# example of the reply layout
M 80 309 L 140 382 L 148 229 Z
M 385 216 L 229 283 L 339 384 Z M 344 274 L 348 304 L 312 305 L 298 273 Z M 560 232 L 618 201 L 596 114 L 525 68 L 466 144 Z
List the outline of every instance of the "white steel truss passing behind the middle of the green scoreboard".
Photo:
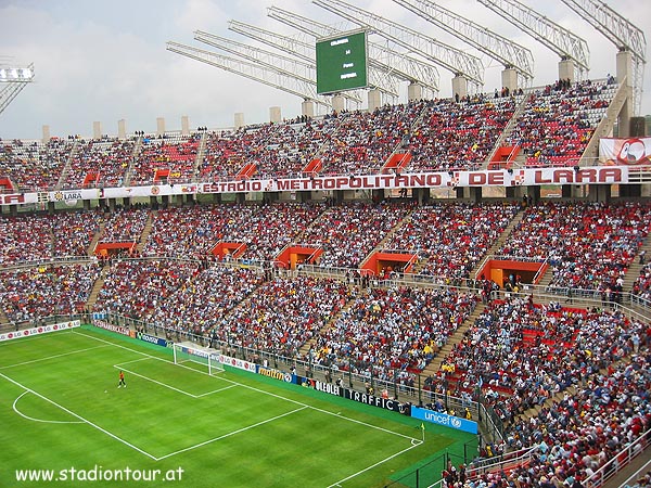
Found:
M 311 38 L 308 38 L 304 35 L 294 37 L 283 36 L 272 33 L 271 30 L 263 29 L 260 27 L 238 21 L 229 21 L 228 28 L 252 39 L 272 46 L 276 49 L 280 49 L 281 51 L 285 51 L 290 54 L 303 57 L 306 61 L 310 61 L 311 63 L 316 63 L 317 54 L 315 44 L 311 41 Z M 369 81 L 370 88 L 378 89 L 394 100 L 399 97 L 399 87 L 395 80 L 383 80 L 382 75 L 376 68 L 371 67 L 369 69 Z M 346 93 L 347 92 L 342 92 L 342 95 L 348 98 Z M 359 97 L 357 97 L 357 99 L 359 99 Z

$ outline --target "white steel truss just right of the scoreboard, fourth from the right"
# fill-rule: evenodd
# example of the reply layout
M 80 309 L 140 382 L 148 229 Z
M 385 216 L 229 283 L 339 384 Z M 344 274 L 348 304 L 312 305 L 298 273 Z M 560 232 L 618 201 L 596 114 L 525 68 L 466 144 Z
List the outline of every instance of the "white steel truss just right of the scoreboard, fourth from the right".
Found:
M 312 0 L 312 3 L 361 27 L 371 28 L 385 39 L 465 78 L 477 91 L 484 85 L 484 66 L 476 56 L 342 0 Z

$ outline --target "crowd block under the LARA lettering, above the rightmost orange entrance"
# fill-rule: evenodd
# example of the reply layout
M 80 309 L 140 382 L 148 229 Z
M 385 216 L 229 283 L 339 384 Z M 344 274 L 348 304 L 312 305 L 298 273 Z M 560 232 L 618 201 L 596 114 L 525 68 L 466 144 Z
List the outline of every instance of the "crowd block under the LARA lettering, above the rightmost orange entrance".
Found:
M 550 287 L 604 292 L 621 285 L 651 226 L 651 206 L 548 202 L 529 206 L 499 254 L 547 259 Z

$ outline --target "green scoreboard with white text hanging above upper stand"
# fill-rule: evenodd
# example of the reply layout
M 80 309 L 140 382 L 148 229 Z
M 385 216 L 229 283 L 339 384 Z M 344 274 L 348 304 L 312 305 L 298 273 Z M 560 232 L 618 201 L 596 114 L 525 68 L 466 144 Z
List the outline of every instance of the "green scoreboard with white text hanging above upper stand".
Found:
M 317 41 L 317 93 L 368 87 L 367 33 L 356 30 Z

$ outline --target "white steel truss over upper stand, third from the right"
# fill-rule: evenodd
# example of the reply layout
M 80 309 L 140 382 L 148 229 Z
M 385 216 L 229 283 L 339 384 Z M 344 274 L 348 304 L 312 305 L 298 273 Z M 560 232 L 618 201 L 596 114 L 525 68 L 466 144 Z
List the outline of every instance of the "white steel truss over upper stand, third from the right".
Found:
M 394 2 L 497 60 L 506 68 L 515 69 L 522 78 L 522 85 L 531 86 L 534 79 L 534 55 L 528 49 L 430 0 Z

